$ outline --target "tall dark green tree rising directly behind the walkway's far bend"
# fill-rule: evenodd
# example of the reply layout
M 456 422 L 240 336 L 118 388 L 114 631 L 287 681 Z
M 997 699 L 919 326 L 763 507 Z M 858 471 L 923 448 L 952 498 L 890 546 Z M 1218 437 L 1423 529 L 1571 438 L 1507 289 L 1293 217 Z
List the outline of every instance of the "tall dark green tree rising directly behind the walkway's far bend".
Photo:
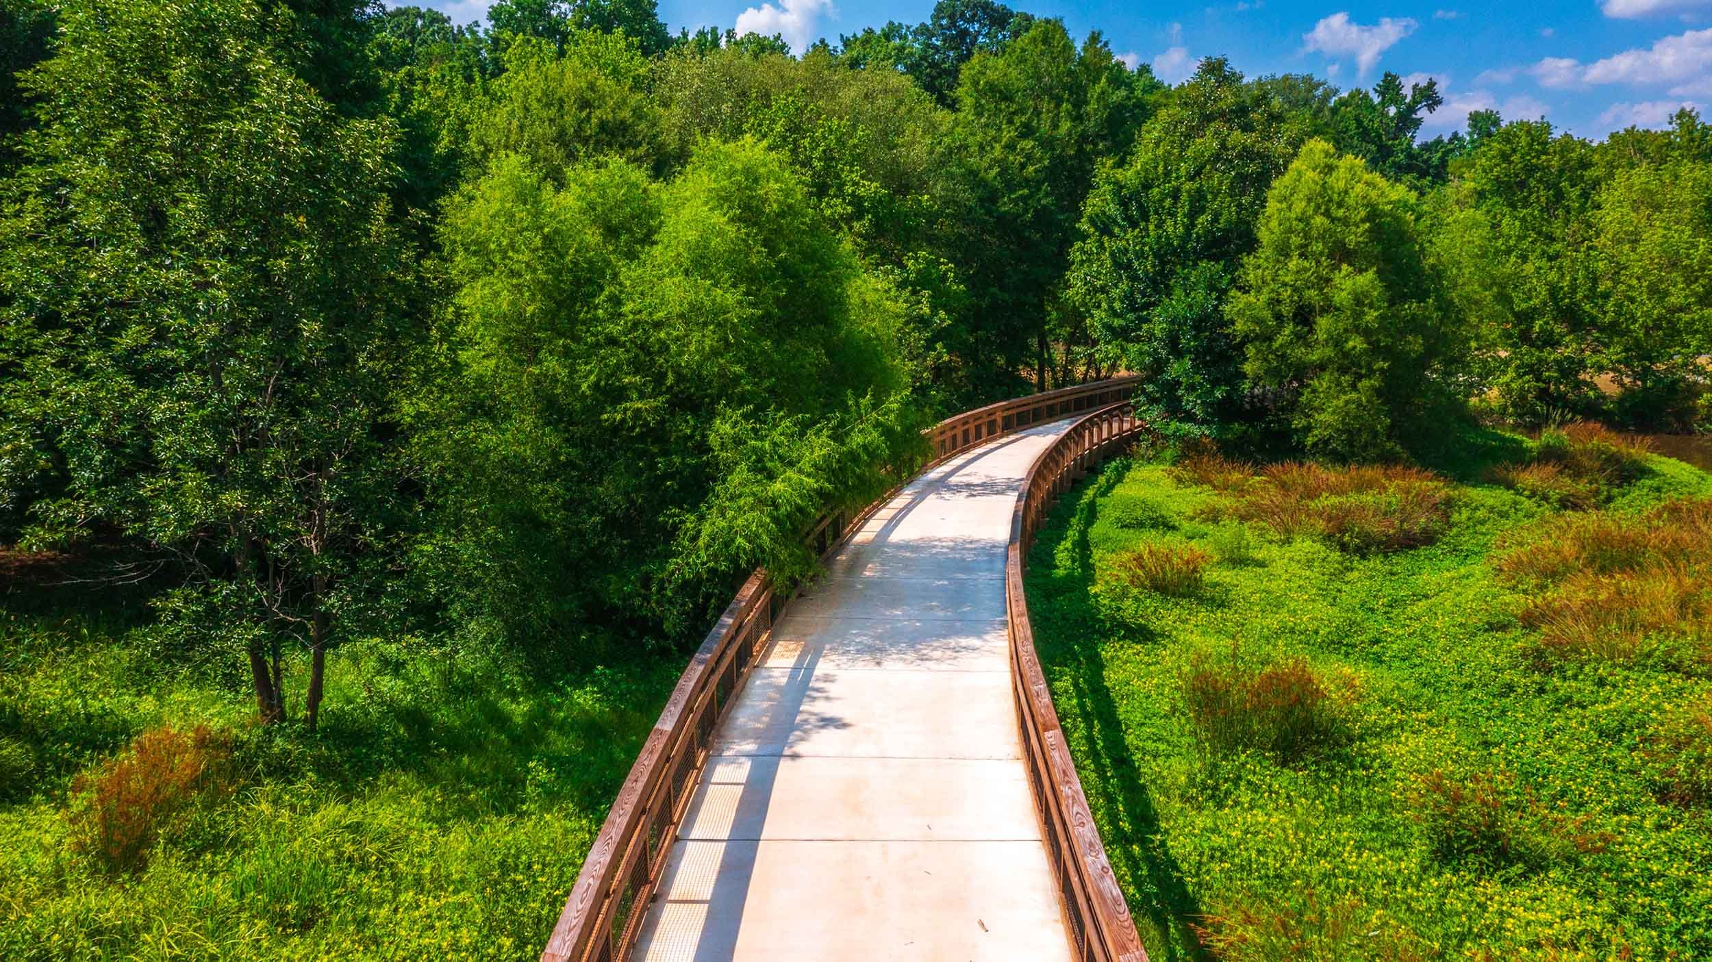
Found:
M 1104 157 L 1128 151 L 1150 74 L 1130 74 L 1101 36 L 1077 50 L 1058 21 L 1036 21 L 998 53 L 978 53 L 957 86 L 957 135 L 976 192 L 971 293 L 1000 370 L 1029 359 L 1046 389 L 1048 301 Z

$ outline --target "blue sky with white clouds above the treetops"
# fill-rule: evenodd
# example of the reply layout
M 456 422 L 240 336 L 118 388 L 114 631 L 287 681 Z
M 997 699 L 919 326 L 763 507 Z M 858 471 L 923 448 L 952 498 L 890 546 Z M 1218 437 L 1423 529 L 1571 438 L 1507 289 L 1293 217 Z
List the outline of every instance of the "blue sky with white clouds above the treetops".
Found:
M 428 5 L 466 22 L 488 3 Z M 1712 0 L 1010 5 L 1061 17 L 1079 38 L 1099 29 L 1118 55 L 1149 62 L 1173 82 L 1207 55 L 1226 55 L 1251 75 L 1311 72 L 1340 87 L 1371 86 L 1385 70 L 1431 75 L 1445 108 L 1428 134 L 1460 128 L 1471 110 L 1496 108 L 1508 120 L 1544 116 L 1599 139 L 1630 123 L 1662 127 L 1681 104 L 1702 115 L 1712 104 Z M 673 33 L 736 26 L 781 33 L 798 48 L 887 21 L 924 21 L 931 9 L 933 0 L 659 0 Z

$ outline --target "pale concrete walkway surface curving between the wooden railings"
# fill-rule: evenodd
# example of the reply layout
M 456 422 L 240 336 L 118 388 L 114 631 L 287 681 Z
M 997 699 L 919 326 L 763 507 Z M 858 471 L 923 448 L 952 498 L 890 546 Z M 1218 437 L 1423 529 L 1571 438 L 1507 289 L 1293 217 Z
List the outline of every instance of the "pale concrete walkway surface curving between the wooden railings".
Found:
M 1005 546 L 1070 421 L 882 507 L 774 626 L 635 959 L 1070 959 L 1010 693 Z

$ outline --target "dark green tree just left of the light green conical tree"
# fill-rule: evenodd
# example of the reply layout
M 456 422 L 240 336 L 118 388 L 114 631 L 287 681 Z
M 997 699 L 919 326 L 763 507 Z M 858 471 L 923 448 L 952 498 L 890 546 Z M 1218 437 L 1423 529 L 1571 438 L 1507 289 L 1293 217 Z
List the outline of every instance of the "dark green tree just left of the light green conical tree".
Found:
M 1311 120 L 1286 103 L 1204 60 L 1082 209 L 1070 296 L 1109 363 L 1144 375 L 1137 402 L 1162 430 L 1228 435 L 1251 416 L 1224 300 Z

